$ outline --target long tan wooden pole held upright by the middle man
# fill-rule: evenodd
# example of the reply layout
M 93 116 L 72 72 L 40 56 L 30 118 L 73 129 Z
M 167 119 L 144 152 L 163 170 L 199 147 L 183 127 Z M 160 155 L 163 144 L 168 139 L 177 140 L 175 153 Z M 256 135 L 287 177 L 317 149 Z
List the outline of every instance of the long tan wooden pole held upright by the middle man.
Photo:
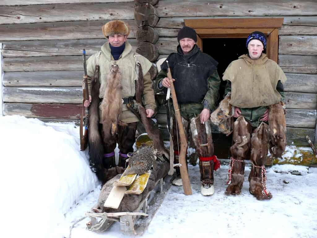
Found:
M 175 89 L 174 89 L 174 84 L 171 76 L 171 69 L 170 66 L 167 63 L 167 77 L 171 82 L 171 96 L 173 99 L 173 106 L 175 109 L 175 114 L 176 114 L 176 120 L 177 120 L 177 125 L 178 125 L 178 130 L 179 130 L 179 137 L 180 137 L 180 152 L 179 152 L 179 162 L 182 164 L 182 166 L 179 167 L 180 169 L 180 175 L 182 178 L 183 182 L 183 188 L 184 188 L 184 194 L 185 195 L 191 195 L 191 184 L 189 182 L 189 177 L 188 177 L 188 171 L 187 171 L 187 166 L 186 166 L 186 159 L 185 155 L 187 152 L 187 139 L 185 136 L 185 131 L 183 127 L 183 122 L 182 118 L 180 116 L 179 108 L 178 108 L 178 102 L 175 94 Z

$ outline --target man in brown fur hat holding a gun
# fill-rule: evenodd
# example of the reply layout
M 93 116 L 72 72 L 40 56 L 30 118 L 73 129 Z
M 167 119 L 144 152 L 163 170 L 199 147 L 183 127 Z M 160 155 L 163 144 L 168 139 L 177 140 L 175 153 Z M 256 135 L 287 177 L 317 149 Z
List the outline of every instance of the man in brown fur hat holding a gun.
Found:
M 104 153 L 102 154 L 103 158 L 100 159 L 101 161 L 99 159 L 97 159 L 97 161 L 102 163 L 103 167 L 106 169 L 115 167 L 116 163 L 114 157 L 114 149 L 116 148 L 116 143 L 118 143 L 120 149 L 118 166 L 126 168 L 127 153 L 133 152 L 135 132 L 137 129 L 137 123 L 139 121 L 138 117 L 130 110 L 128 110 L 126 104 L 131 103 L 134 100 L 134 96 L 136 93 L 135 81 L 138 80 L 138 77 L 140 75 L 140 73 L 139 75 L 137 74 L 137 71 L 139 69 L 137 66 L 140 64 L 142 67 L 141 74 L 143 75 L 144 79 L 144 90 L 142 93 L 142 98 L 146 109 L 146 116 L 151 117 L 154 114 L 154 109 L 156 108 L 156 105 L 152 88 L 152 81 L 149 73 L 149 69 L 151 68 L 152 63 L 148 61 L 145 57 L 136 54 L 133 51 L 131 44 L 127 42 L 127 37 L 130 33 L 130 29 L 127 23 L 119 20 L 110 21 L 102 26 L 102 33 L 108 39 L 108 41 L 104 45 L 102 45 L 101 51 L 95 53 L 87 60 L 88 76 L 94 76 L 96 65 L 99 65 L 100 67 L 99 95 L 94 95 L 94 92 L 92 92 L 92 100 L 94 100 L 94 97 L 98 99 L 98 102 L 100 100 L 100 123 L 103 122 L 101 118 L 106 108 L 109 109 L 110 106 L 112 106 L 111 108 L 113 108 L 114 105 L 115 107 L 119 108 L 120 112 L 118 115 L 118 127 L 116 127 L 115 124 L 99 124 L 99 132 L 102 135 L 102 139 L 104 141 Z M 118 73 L 113 76 L 113 72 Z M 112 85 L 108 85 L 108 82 L 111 82 L 109 84 Z M 116 101 L 114 99 L 114 95 L 117 93 L 117 89 L 119 90 L 118 92 L 121 93 L 121 96 L 119 100 Z M 90 102 L 87 100 L 84 103 L 86 107 L 89 106 L 89 104 Z M 111 111 L 111 108 L 110 111 L 107 111 L 109 115 L 103 116 L 105 116 L 106 118 L 113 116 L 115 112 Z M 111 131 L 116 130 L 116 133 L 111 135 L 110 139 L 106 140 L 105 128 L 109 127 L 111 128 Z M 90 129 L 89 133 L 93 134 L 94 132 L 92 132 Z M 91 140 L 89 140 L 89 146 L 91 146 Z M 93 161 L 94 160 L 96 159 L 93 159 Z

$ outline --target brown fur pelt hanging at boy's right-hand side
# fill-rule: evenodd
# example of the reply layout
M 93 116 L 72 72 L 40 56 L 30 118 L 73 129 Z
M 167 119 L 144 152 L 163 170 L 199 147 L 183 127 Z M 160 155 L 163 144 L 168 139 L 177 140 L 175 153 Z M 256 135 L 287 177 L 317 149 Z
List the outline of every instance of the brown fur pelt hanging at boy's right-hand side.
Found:
M 281 157 L 286 147 L 286 121 L 281 103 L 268 107 L 268 124 L 270 153 L 275 157 Z

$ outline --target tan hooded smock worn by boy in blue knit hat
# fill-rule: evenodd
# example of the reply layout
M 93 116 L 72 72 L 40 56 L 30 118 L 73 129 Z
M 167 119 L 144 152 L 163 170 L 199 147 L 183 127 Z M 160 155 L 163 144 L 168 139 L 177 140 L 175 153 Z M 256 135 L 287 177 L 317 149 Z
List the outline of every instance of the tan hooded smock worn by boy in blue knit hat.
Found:
M 275 61 L 262 53 L 259 59 L 242 55 L 232 61 L 223 73 L 223 80 L 231 81 L 231 105 L 254 108 L 280 102 L 276 85 L 279 80 L 285 83 L 286 76 Z

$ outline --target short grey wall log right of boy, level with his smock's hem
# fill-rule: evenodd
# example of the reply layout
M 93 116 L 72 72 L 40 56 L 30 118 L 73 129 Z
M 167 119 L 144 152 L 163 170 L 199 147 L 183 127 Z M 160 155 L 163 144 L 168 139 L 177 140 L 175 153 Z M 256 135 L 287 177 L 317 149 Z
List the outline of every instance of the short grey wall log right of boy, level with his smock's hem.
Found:
M 284 102 L 289 109 L 316 109 L 316 93 L 285 92 Z

